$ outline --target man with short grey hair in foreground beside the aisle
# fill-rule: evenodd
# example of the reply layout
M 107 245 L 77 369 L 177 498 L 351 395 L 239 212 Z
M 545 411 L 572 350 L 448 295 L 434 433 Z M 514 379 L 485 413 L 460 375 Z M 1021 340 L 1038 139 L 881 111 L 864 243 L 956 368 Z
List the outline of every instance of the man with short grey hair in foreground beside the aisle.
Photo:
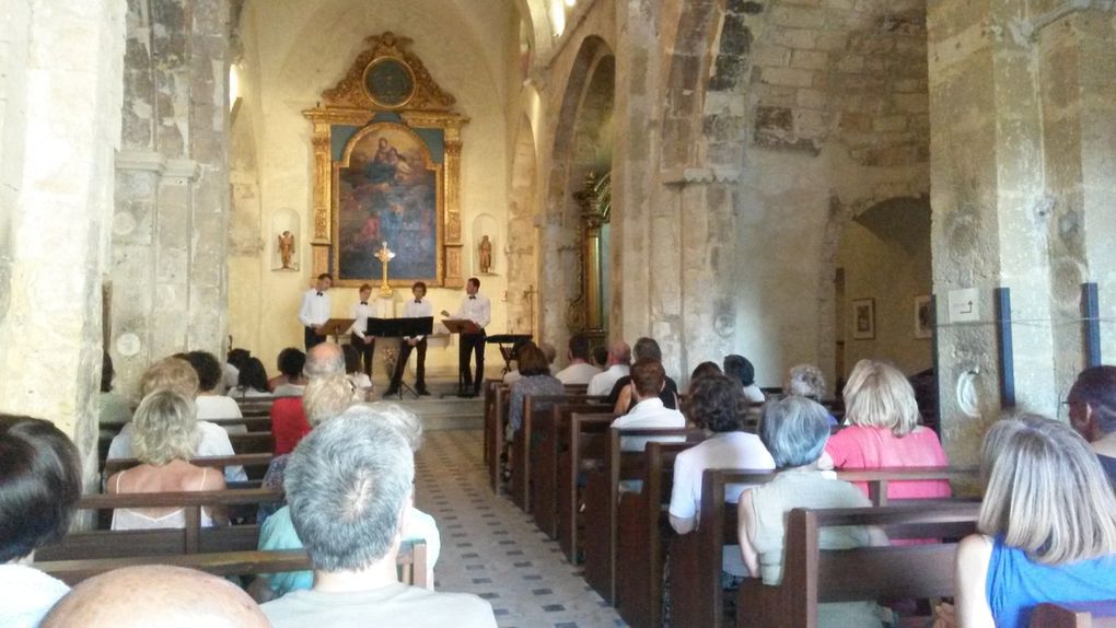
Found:
M 366 406 L 330 418 L 299 444 L 283 485 L 314 563 L 314 588 L 262 606 L 276 628 L 496 626 L 491 605 L 475 596 L 398 582 L 414 473 L 406 438 Z

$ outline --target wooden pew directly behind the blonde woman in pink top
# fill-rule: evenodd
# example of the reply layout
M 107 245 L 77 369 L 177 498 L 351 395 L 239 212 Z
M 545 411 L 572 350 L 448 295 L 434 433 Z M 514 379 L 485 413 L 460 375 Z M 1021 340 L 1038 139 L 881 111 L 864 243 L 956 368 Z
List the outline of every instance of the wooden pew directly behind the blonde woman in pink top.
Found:
M 867 482 L 874 505 L 888 503 L 917 506 L 953 504 L 959 500 L 908 500 L 887 502 L 887 484 L 895 481 L 949 480 L 975 473 L 973 468 L 897 467 L 841 471 L 840 480 Z M 671 543 L 671 608 L 673 616 L 693 617 L 694 626 L 721 626 L 721 548 L 738 544 L 737 509 L 724 499 L 730 484 L 760 484 L 775 477 L 771 471 L 706 470 L 702 475 L 701 516 L 698 529 L 680 534 Z M 728 506 L 728 508 L 727 508 Z M 933 535 L 930 535 L 933 537 Z M 679 576 L 675 578 L 675 576 Z M 681 619 L 687 621 L 686 619 Z M 686 624 L 689 625 L 689 624 Z

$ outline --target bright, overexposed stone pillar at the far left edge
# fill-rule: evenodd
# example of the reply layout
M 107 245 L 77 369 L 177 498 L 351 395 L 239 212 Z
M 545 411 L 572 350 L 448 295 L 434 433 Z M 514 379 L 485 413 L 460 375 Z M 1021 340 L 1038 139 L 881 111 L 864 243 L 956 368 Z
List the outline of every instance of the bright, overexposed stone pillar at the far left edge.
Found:
M 92 477 L 124 6 L 13 0 L 0 25 L 0 412 L 54 422 Z

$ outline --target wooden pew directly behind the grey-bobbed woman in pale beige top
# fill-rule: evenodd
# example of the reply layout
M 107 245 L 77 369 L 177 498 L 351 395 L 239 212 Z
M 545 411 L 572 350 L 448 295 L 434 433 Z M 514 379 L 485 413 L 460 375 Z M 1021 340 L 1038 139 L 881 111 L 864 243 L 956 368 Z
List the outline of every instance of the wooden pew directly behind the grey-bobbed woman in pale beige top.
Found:
M 979 503 L 791 511 L 782 583 L 745 579 L 737 626 L 816 628 L 818 605 L 954 595 L 956 543 L 821 550 L 820 528 L 878 525 L 892 538 L 956 539 L 977 529 Z M 673 609 L 672 609 L 673 612 Z

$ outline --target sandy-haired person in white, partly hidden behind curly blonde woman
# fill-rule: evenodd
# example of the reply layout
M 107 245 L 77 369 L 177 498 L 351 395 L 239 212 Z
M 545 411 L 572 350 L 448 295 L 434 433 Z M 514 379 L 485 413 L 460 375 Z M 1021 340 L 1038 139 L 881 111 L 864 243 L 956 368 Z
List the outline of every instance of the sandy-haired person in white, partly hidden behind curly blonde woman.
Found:
M 140 389 L 145 397 L 155 390 L 167 389 L 193 400 L 198 395 L 198 373 L 190 366 L 190 363 L 183 359 L 163 358 L 144 371 L 140 380 Z M 229 441 L 229 433 L 220 425 L 199 421 L 198 432 L 200 434 L 198 456 L 231 456 L 234 454 L 232 442 Z M 108 445 L 107 460 L 137 457 L 132 447 L 133 435 L 134 425 L 128 423 Z M 244 473 L 243 466 L 227 466 L 224 479 L 227 482 L 243 482 L 248 480 L 248 475 Z

